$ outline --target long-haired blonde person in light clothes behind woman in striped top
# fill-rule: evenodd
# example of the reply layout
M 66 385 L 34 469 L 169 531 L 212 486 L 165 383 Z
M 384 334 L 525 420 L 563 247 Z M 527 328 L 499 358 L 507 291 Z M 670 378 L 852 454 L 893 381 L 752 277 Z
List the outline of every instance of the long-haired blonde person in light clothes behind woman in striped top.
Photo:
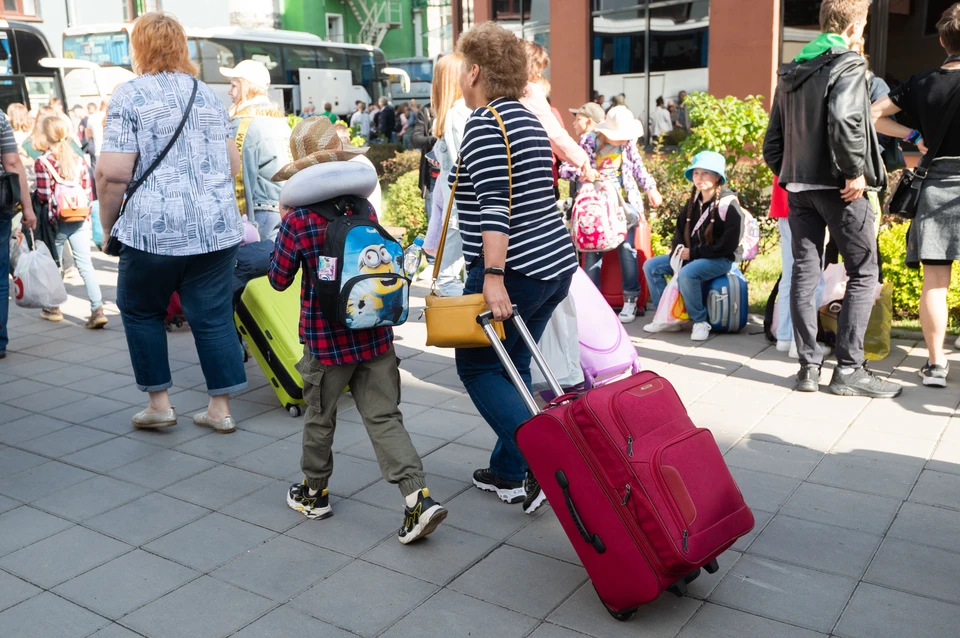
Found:
M 435 254 L 443 232 L 443 218 L 450 199 L 450 174 L 457 170 L 460 156 L 460 142 L 463 129 L 470 117 L 470 109 L 463 101 L 458 78 L 463 59 L 457 53 L 445 55 L 437 61 L 433 72 L 433 89 L 430 103 L 436 112 L 433 122 L 434 135 L 439 137 L 434 146 L 434 155 L 440 163 L 440 175 L 433 189 L 430 211 L 430 223 L 424 249 Z M 443 261 L 440 263 L 440 276 L 437 278 L 437 292 L 444 297 L 457 297 L 463 294 L 463 241 L 460 239 L 460 226 L 457 222 L 457 207 L 450 212 L 450 226 L 444 242 Z

